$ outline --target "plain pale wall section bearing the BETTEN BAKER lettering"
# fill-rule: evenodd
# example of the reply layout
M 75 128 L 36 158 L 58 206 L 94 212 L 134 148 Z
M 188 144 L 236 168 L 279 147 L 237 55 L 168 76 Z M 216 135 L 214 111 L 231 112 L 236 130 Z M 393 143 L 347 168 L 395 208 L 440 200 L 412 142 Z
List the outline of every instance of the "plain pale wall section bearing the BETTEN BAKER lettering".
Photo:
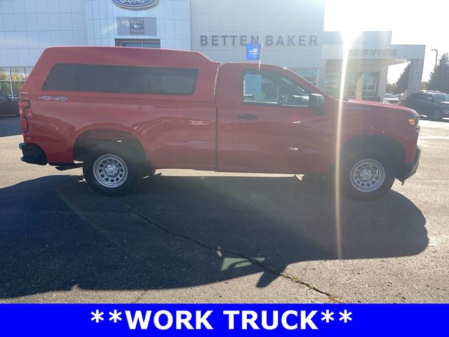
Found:
M 267 35 L 274 37 L 274 45 L 264 45 L 262 62 L 285 67 L 321 67 L 321 39 L 323 35 L 325 1 L 316 0 L 192 0 L 192 50 L 201 51 L 220 62 L 246 61 L 246 46 L 240 36 L 259 35 L 264 42 Z M 201 35 L 208 36 L 208 44 L 201 45 Z M 224 46 L 222 35 L 236 35 Z M 295 35 L 295 46 L 287 46 L 288 36 Z M 306 45 L 298 46 L 300 35 Z M 317 37 L 316 45 L 309 37 Z M 219 36 L 219 45 L 213 46 L 211 37 Z M 276 46 L 279 36 L 283 43 Z M 247 40 L 248 40 L 247 39 Z M 230 41 L 230 43 L 229 43 Z

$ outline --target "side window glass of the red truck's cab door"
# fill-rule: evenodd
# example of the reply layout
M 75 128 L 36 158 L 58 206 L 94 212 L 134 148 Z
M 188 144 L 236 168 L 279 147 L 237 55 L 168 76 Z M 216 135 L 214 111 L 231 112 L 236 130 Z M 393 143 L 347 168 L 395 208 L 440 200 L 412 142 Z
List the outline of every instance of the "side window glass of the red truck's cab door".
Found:
M 243 71 L 243 103 L 309 106 L 309 91 L 293 80 L 272 70 Z

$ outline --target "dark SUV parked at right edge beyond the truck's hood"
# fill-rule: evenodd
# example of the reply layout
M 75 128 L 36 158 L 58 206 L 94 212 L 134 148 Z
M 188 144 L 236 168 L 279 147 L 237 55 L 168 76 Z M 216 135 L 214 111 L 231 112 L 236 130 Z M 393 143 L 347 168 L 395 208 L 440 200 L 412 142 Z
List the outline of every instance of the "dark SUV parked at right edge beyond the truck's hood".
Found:
M 412 93 L 403 105 L 431 119 L 440 120 L 449 117 L 448 95 L 439 91 Z

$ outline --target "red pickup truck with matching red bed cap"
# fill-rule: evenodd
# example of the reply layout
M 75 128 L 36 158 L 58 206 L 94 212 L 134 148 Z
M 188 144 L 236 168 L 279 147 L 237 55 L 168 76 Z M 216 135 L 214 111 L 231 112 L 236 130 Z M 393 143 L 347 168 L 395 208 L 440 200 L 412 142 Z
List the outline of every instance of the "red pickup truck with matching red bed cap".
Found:
M 83 166 L 101 194 L 128 192 L 155 169 L 335 171 L 358 199 L 417 169 L 419 115 L 342 103 L 286 68 L 220 64 L 192 51 L 47 48 L 20 93 L 22 161 Z M 337 145 L 337 136 L 340 145 Z M 340 150 L 336 150 L 340 149 Z

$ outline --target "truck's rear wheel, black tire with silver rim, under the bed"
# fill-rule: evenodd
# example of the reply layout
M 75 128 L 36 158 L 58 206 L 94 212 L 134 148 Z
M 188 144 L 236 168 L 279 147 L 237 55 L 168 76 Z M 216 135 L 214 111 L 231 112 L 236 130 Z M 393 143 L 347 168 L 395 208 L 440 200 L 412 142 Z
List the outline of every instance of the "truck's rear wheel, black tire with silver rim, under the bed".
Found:
M 83 163 L 83 174 L 89 187 L 109 197 L 130 192 L 142 178 L 142 165 L 133 153 L 125 145 L 93 147 Z

